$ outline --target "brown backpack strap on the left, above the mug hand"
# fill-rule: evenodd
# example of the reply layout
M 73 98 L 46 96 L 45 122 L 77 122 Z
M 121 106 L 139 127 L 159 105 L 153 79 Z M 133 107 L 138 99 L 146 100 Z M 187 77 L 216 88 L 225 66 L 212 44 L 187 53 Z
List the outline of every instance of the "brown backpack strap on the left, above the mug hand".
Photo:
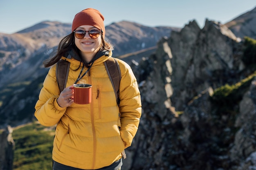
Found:
M 66 87 L 68 72 L 70 71 L 70 62 L 59 60 L 56 64 L 56 79 L 60 92 Z

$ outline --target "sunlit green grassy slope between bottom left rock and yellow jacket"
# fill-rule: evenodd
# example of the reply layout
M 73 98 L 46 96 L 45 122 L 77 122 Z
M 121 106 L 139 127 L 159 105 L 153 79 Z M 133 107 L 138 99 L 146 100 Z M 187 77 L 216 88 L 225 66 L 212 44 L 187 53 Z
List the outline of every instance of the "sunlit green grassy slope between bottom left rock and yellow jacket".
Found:
M 52 169 L 54 128 L 46 128 L 34 122 L 13 130 L 13 170 Z

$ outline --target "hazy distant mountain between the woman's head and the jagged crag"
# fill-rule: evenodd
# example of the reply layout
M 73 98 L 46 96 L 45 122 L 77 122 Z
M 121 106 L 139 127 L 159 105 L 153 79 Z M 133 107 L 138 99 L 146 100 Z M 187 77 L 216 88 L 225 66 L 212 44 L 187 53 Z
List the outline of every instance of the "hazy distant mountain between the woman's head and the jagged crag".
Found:
M 134 22 L 121 21 L 106 26 L 106 37 L 115 45 L 114 55 L 123 55 L 155 46 L 162 37 L 170 37 L 171 31 L 181 28 L 148 27 Z

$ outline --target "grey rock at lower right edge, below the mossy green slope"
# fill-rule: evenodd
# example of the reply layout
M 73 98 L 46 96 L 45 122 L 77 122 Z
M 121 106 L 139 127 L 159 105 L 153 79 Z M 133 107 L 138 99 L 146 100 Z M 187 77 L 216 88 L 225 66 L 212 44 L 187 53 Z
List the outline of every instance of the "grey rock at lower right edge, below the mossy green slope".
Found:
M 249 91 L 243 96 L 239 104 L 240 114 L 234 126 L 239 128 L 234 138 L 234 144 L 230 150 L 232 161 L 245 161 L 240 163 L 241 170 L 247 170 L 249 166 L 256 167 L 256 79 L 252 81 Z

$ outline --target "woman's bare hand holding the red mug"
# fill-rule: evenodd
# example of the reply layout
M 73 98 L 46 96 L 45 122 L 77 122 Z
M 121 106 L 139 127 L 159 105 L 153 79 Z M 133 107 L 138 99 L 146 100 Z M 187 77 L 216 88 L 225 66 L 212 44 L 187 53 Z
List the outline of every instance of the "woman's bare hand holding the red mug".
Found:
M 64 88 L 63 91 L 61 92 L 60 96 L 57 99 L 57 103 L 60 107 L 65 108 L 70 106 L 72 103 L 74 103 L 74 100 L 70 99 L 70 97 L 73 97 L 74 91 L 73 89 L 70 89 L 69 86 L 67 88 Z

